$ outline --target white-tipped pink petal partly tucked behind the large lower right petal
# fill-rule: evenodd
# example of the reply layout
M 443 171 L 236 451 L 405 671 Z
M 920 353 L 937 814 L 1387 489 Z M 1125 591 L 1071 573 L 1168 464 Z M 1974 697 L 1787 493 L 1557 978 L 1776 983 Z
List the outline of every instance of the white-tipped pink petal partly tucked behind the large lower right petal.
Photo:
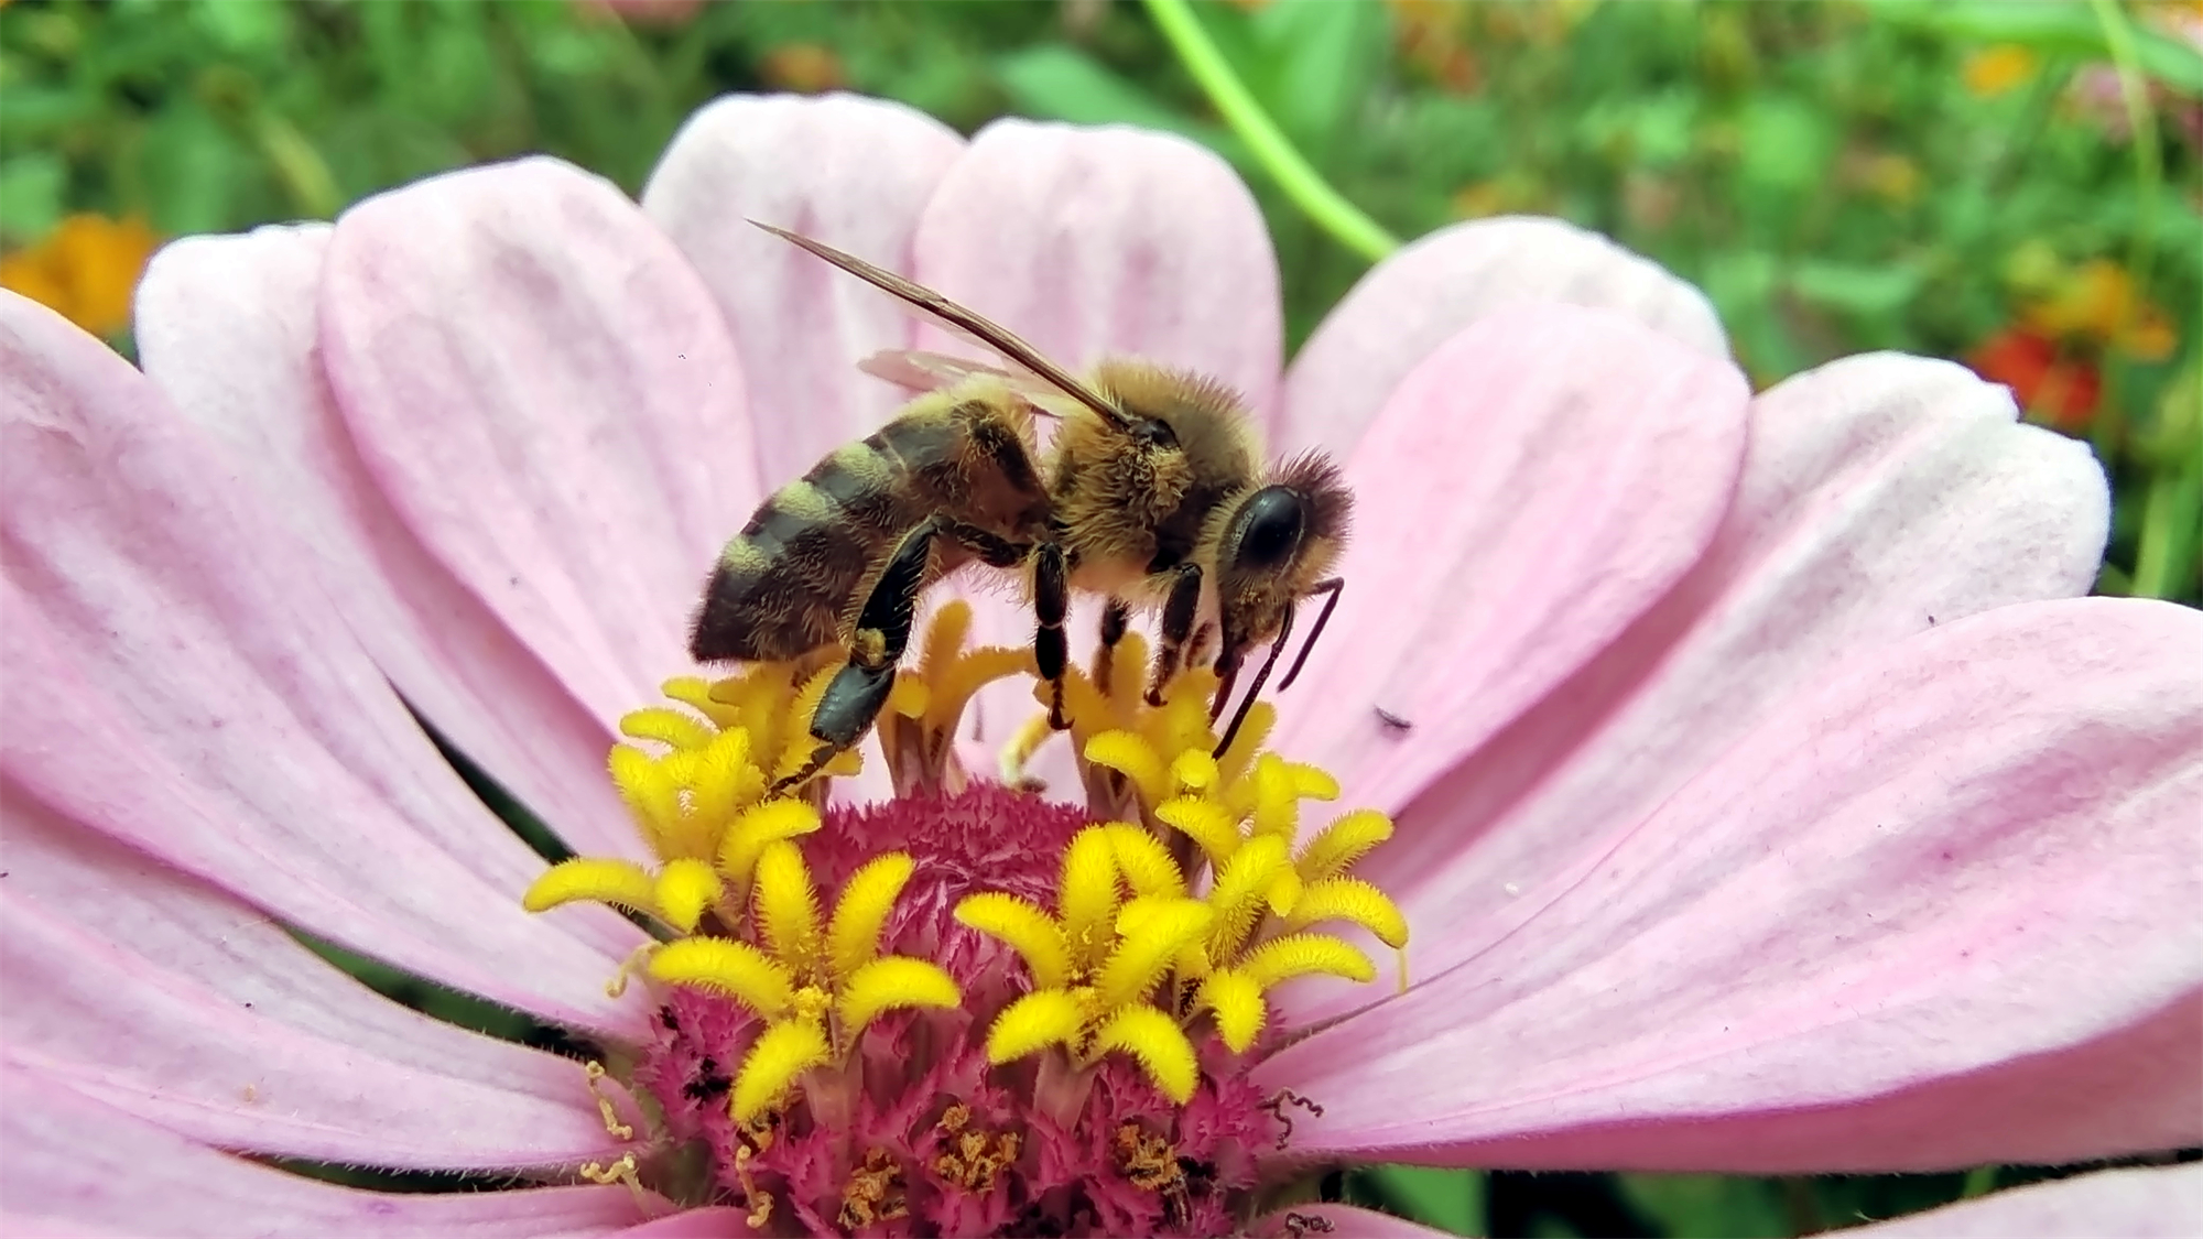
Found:
M 1754 401 L 1721 534 L 1659 606 L 1436 785 L 1348 772 L 1350 796 L 1408 805 L 1366 873 L 1434 933 L 1423 963 L 1480 948 L 1458 935 L 1478 908 L 1641 820 L 1842 657 L 2084 591 L 2104 474 L 2084 445 L 2014 417 L 2005 388 L 1917 357 L 1782 384 Z M 1403 747 L 1432 739 L 1414 721 Z

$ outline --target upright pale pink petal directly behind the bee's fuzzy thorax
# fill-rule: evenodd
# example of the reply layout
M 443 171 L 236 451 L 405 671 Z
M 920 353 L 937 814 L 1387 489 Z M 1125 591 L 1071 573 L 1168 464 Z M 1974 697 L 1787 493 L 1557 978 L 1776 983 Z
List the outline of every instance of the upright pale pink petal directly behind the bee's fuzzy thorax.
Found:
M 987 126 L 925 207 L 912 278 L 1075 370 L 1104 355 L 1146 357 L 1240 390 L 1258 425 L 1273 414 L 1284 311 L 1269 229 L 1231 168 L 1185 139 Z M 934 328 L 921 344 L 972 353 Z M 972 604 L 978 642 L 1033 639 L 1031 606 L 1013 595 L 978 589 Z M 1073 604 L 1079 657 L 1097 620 L 1097 600 Z M 998 747 L 1029 714 L 1027 686 L 994 683 L 965 725 Z M 1062 741 L 1051 750 L 1062 763 Z

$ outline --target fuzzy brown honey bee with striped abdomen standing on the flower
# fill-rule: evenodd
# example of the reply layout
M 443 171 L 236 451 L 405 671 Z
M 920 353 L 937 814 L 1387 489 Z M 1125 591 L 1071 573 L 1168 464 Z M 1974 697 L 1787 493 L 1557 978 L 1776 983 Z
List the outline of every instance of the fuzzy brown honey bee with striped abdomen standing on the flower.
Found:
M 1093 379 L 1079 379 L 932 289 L 806 236 L 758 227 L 1009 364 L 916 351 L 866 359 L 875 375 L 934 390 L 773 492 L 720 551 L 690 628 L 696 661 L 846 650 L 811 717 L 820 745 L 782 787 L 870 730 L 910 646 L 919 595 L 972 562 L 1020 578 L 1057 730 L 1068 728 L 1064 615 L 1073 591 L 1108 600 L 1097 675 L 1106 675 L 1132 611 L 1161 611 L 1150 703 L 1214 639 L 1212 721 L 1247 650 L 1269 644 L 1218 756 L 1269 681 L 1298 604 L 1322 595 L 1324 608 L 1278 688 L 1293 683 L 1346 584 L 1331 569 L 1353 494 L 1331 459 L 1309 452 L 1265 465 L 1247 408 L 1214 379 L 1128 357 L 1104 359 Z M 1057 421 L 1046 448 L 1038 417 Z

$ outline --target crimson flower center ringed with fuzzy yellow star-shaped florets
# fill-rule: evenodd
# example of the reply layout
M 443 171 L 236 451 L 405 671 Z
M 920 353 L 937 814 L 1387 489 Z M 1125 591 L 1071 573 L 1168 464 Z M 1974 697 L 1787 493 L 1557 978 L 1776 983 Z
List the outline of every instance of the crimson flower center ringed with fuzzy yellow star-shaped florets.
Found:
M 676 679 L 676 705 L 621 721 L 608 765 L 656 864 L 566 860 L 524 902 L 615 904 L 661 937 L 634 961 L 654 1041 L 623 1074 L 659 1127 L 626 1177 L 782 1232 L 1229 1232 L 1289 1135 L 1247 1078 L 1287 1038 L 1269 992 L 1377 974 L 1315 926 L 1406 946 L 1399 908 L 1348 873 L 1390 820 L 1302 838 L 1302 802 L 1337 783 L 1260 752 L 1267 703 L 1212 756 L 1214 675 L 1148 705 L 1137 635 L 1064 686 L 1084 809 L 972 778 L 965 703 L 1033 664 L 965 650 L 967 628 L 943 606 L 899 675 L 883 805 L 822 811 L 855 754 L 771 796 L 815 747 L 831 668 Z M 1033 747 L 1016 745 L 1005 767 Z

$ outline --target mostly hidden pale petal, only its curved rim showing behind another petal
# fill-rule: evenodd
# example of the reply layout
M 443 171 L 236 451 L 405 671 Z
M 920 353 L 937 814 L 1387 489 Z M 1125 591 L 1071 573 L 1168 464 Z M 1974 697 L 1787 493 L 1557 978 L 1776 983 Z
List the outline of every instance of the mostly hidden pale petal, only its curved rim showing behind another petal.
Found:
M 1599 234 L 1549 218 L 1461 223 L 1379 262 L 1324 317 L 1293 357 L 1278 443 L 1350 452 L 1439 344 L 1544 302 L 1621 311 L 1701 353 L 1729 355 L 1705 293 Z

